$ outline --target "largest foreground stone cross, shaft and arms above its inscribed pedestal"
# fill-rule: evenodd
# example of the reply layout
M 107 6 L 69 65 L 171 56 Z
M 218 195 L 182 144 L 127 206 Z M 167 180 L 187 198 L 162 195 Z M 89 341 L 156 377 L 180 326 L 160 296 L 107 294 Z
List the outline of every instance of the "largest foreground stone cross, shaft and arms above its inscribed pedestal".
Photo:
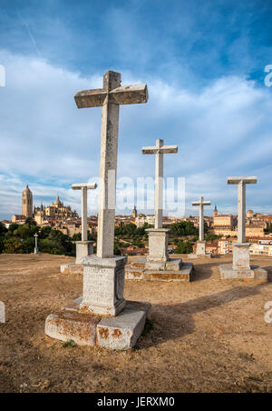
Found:
M 114 247 L 119 105 L 146 103 L 147 85 L 121 85 L 121 74 L 108 71 L 103 76 L 103 88 L 81 91 L 74 99 L 78 108 L 102 107 L 97 256 L 111 258 Z

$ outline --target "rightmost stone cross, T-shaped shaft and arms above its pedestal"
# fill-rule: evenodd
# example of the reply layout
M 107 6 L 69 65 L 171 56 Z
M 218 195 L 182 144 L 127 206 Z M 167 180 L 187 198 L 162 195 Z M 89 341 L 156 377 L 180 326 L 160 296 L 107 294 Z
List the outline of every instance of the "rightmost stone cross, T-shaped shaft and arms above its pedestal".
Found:
M 228 177 L 228 184 L 238 185 L 238 244 L 246 242 L 246 184 L 257 184 L 257 177 Z

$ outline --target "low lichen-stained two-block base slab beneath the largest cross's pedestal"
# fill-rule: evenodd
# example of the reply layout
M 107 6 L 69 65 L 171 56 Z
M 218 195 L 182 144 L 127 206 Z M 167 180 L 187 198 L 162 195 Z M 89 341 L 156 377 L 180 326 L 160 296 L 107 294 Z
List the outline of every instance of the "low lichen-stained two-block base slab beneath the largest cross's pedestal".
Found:
M 73 340 L 78 346 L 103 346 L 128 350 L 135 346 L 150 318 L 151 304 L 128 301 L 119 316 L 83 314 L 78 298 L 62 311 L 46 318 L 45 335 L 60 341 Z

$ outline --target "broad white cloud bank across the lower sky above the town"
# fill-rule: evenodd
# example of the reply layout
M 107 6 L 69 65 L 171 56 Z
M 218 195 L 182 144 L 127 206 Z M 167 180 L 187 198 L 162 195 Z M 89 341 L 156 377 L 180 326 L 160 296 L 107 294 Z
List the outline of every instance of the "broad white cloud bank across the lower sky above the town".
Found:
M 51 202 L 58 192 L 80 210 L 80 198 L 69 186 L 99 175 L 101 109 L 78 110 L 73 95 L 101 87 L 102 74 L 83 78 L 5 51 L 0 64 L 6 70 L 6 86 L 0 88 L 0 217 L 20 213 L 26 182 L 35 201 Z M 267 87 L 232 76 L 196 93 L 164 78 L 135 79 L 129 72 L 122 77 L 123 84 L 146 81 L 150 100 L 121 107 L 119 176 L 153 176 L 154 158 L 141 155 L 141 145 L 163 138 L 179 145 L 179 154 L 165 156 L 165 175 L 186 177 L 188 212 L 199 195 L 235 211 L 228 175 L 257 175 L 259 184 L 248 189 L 248 206 L 269 211 L 272 103 Z

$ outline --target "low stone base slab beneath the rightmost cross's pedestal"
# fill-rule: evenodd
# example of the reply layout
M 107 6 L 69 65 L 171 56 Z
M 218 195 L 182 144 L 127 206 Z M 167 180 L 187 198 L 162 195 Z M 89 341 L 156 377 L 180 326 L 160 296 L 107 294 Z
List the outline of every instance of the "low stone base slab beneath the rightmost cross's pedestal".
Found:
M 264 283 L 267 283 L 269 281 L 267 270 L 260 268 L 259 266 L 250 266 L 248 270 L 234 270 L 231 264 L 224 264 L 222 266 L 219 266 L 219 270 L 222 280 L 255 280 Z

